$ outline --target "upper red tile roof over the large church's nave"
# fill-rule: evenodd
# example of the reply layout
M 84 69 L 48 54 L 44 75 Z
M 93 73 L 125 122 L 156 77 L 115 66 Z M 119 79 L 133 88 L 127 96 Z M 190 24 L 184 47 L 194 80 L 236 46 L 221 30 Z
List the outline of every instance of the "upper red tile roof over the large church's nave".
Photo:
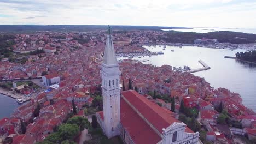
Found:
M 179 122 L 172 117 L 170 110 L 152 103 L 136 91 L 123 91 L 121 94 L 159 131 L 159 133 L 162 133 L 162 128 L 167 128 L 172 123 Z M 189 128 L 186 128 L 185 131 L 194 133 Z

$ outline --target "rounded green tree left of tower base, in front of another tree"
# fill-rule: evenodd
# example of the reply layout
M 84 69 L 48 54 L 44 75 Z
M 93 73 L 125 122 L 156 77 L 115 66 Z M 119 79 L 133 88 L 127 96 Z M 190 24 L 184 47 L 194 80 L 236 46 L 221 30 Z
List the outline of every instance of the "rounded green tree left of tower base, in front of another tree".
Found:
M 62 124 L 58 128 L 62 140 L 74 140 L 79 134 L 79 127 L 77 124 Z

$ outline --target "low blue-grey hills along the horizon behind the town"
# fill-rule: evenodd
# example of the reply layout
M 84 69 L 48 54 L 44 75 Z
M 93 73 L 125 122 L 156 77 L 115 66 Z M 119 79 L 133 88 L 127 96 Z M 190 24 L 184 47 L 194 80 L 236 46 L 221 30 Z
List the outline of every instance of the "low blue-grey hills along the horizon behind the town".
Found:
M 186 27 L 159 27 L 159 26 L 111 26 L 115 30 L 157 30 L 176 29 Z M 0 25 L 0 31 L 92 31 L 107 29 L 107 25 Z

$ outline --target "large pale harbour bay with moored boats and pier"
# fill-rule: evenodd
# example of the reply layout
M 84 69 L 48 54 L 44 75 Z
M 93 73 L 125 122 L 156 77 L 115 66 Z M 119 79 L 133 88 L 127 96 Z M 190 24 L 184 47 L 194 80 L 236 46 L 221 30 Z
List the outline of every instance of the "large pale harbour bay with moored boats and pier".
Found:
M 166 46 L 148 47 L 149 51 L 162 51 L 164 55 L 134 57 L 133 59 L 148 59 L 145 64 L 161 66 L 164 64 L 172 67 L 189 66 L 191 69 L 202 68 L 198 62 L 200 59 L 208 64 L 211 69 L 193 73 L 196 76 L 205 77 L 207 82 L 214 88 L 224 87 L 231 92 L 239 93 L 243 99 L 243 104 L 256 111 L 256 65 L 236 61 L 235 59 L 224 58 L 224 56 L 235 56 L 236 52 L 245 50 L 237 49 L 234 51 L 224 49 L 210 49 L 195 46 L 183 46 L 182 48 Z M 171 50 L 174 50 L 172 52 Z M 127 57 L 126 57 L 127 58 Z M 120 57 L 118 59 L 124 59 Z

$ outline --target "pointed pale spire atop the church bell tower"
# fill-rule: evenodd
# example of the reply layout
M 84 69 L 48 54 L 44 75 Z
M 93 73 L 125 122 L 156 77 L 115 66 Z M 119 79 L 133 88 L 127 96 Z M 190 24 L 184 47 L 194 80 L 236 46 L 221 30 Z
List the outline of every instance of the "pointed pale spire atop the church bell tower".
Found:
M 103 56 L 103 63 L 106 65 L 118 64 L 117 57 L 115 56 L 114 44 L 112 35 L 107 35 L 106 46 Z

